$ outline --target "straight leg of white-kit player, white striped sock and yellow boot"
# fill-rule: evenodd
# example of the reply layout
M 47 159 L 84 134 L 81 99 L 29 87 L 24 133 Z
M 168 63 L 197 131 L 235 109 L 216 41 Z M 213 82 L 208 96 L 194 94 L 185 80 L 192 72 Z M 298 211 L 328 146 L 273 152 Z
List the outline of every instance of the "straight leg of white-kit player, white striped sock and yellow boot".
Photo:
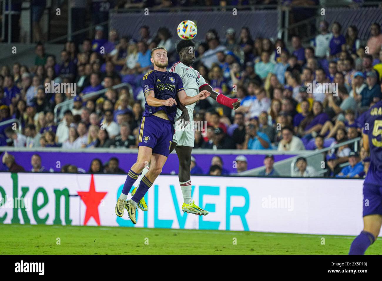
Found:
M 176 144 L 175 144 L 176 145 Z M 208 214 L 208 211 L 203 210 L 195 204 L 191 197 L 191 146 L 176 146 L 175 151 L 179 159 L 179 184 L 183 194 L 182 211 L 199 216 Z

